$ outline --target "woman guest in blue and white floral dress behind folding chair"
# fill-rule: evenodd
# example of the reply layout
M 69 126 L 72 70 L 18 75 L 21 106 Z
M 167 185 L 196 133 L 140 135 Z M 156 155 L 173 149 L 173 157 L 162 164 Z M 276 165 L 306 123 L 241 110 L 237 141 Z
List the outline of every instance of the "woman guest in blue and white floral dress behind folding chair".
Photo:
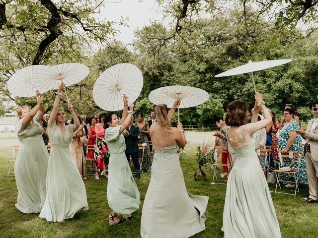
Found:
M 287 124 L 284 125 L 284 127 L 279 131 L 278 134 L 278 148 L 281 151 L 302 151 L 302 137 L 295 132 L 295 130 L 298 129 L 299 123 L 294 119 L 293 111 L 289 108 L 286 108 L 284 110 L 283 117 Z M 293 139 L 295 138 L 295 139 Z M 289 166 L 292 163 L 292 159 L 284 158 L 284 167 Z M 295 160 L 292 167 L 298 167 L 298 160 Z M 286 181 L 293 181 L 294 175 L 292 174 L 280 174 L 279 179 L 283 179 Z M 299 167 L 299 178 L 298 181 L 303 184 L 307 184 L 307 172 L 306 172 L 306 164 L 304 156 L 301 160 L 301 165 Z M 287 187 L 293 187 L 295 186 L 295 183 L 288 183 Z

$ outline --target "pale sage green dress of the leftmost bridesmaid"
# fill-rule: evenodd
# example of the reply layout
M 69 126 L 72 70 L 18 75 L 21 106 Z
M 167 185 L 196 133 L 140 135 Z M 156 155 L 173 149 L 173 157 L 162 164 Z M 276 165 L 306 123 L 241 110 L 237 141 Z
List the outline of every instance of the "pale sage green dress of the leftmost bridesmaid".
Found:
M 23 118 L 16 125 L 20 145 L 14 174 L 18 189 L 16 208 L 23 213 L 38 213 L 41 211 L 46 197 L 46 171 L 49 153 L 42 138 L 43 128 L 36 115 L 22 131 Z

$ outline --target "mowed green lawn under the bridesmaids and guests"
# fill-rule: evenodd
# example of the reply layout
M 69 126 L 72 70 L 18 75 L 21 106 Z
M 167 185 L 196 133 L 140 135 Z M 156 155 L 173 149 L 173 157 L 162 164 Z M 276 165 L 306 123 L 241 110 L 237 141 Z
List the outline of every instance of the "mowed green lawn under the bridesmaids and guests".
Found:
M 209 196 L 206 211 L 205 231 L 193 236 L 195 238 L 223 238 L 222 214 L 226 185 L 210 185 L 212 175 L 210 168 L 204 168 L 206 181 L 195 181 L 194 173 L 198 168 L 195 162 L 196 148 L 205 137 L 211 138 L 211 132 L 189 132 L 187 139 L 192 141 L 185 150 L 187 156 L 180 159 L 187 190 L 192 194 Z M 89 211 L 79 212 L 74 219 L 65 223 L 46 222 L 38 214 L 19 212 L 16 203 L 17 189 L 13 176 L 7 177 L 8 162 L 12 156 L 12 144 L 16 143 L 14 135 L 0 133 L 0 237 L 1 238 L 139 238 L 142 205 L 150 181 L 148 174 L 143 174 L 137 181 L 141 193 L 141 206 L 133 215 L 134 222 L 125 222 L 120 226 L 109 226 L 108 215 L 111 210 L 107 204 L 107 179 L 95 180 L 88 176 L 84 180 Z M 174 181 L 171 181 L 174 182 Z M 270 185 L 270 190 L 275 190 Z M 303 197 L 308 196 L 308 186 L 301 186 L 296 197 L 274 194 L 272 198 L 278 216 L 283 238 L 318 238 L 318 204 L 303 205 Z M 262 204 L 260 204 L 262 206 Z M 264 234 L 264 238 L 267 238 Z

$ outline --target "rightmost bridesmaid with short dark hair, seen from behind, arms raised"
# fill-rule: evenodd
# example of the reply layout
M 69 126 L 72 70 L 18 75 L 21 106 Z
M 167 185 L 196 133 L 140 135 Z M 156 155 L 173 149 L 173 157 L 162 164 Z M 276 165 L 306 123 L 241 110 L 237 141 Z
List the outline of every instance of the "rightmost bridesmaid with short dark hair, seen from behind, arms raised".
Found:
M 225 117 L 225 122 L 231 126 L 227 131 L 228 142 L 237 156 L 227 183 L 222 228 L 225 238 L 281 238 L 271 194 L 251 135 L 270 124 L 272 119 L 262 95 L 257 92 L 255 100 L 252 123 L 246 123 L 247 104 L 240 100 L 228 105 Z M 259 107 L 265 119 L 257 121 Z

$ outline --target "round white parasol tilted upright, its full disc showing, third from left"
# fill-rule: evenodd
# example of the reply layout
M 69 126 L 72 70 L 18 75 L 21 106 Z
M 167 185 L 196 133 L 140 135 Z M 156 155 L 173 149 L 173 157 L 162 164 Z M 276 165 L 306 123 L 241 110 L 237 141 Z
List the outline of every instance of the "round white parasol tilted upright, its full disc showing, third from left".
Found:
M 106 111 L 118 111 L 124 107 L 123 95 L 129 103 L 138 98 L 144 80 L 139 68 L 131 63 L 120 63 L 106 69 L 97 78 L 93 88 L 93 99 L 98 107 Z

